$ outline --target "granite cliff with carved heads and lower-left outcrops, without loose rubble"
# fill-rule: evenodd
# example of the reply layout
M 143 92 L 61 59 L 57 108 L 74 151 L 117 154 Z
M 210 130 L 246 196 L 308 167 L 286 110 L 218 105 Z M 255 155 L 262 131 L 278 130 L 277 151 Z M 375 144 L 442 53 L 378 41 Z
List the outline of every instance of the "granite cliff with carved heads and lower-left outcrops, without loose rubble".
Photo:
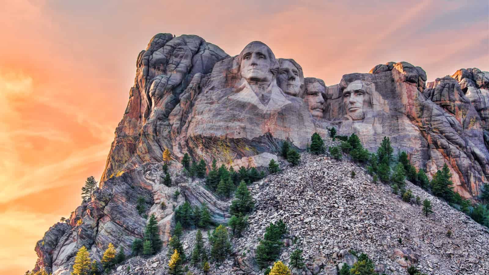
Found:
M 261 42 L 231 57 L 198 36 L 157 34 L 137 57 L 100 188 L 69 224 L 53 226 L 38 242 L 35 270 L 69 274 L 83 245 L 96 260 L 109 242 L 129 254 L 146 223 L 136 210 L 138 197 L 145 198 L 148 215 L 156 214 L 164 243 L 173 206 L 185 200 L 207 203 L 214 221 L 225 222 L 229 202 L 181 174 L 184 153 L 236 170 L 262 169 L 280 159 L 284 141 L 303 150 L 312 133 L 326 137 L 327 127 L 356 133 L 372 151 L 387 136 L 428 174 L 446 163 L 455 189 L 466 198 L 477 196 L 489 175 L 488 77 L 479 69 L 461 69 L 426 83 L 420 67 L 390 62 L 369 73 L 345 74 L 326 87 L 321 79 L 305 78 L 294 60 L 275 58 Z M 160 184 L 165 149 L 176 160 L 169 168 L 172 187 Z M 181 195 L 174 198 L 176 190 Z

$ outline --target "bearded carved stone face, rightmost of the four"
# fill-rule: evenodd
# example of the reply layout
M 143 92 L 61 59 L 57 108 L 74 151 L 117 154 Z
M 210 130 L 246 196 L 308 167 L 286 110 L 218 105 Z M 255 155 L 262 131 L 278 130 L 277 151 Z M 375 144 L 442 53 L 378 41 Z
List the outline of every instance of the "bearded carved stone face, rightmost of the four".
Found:
M 355 80 L 343 90 L 343 104 L 346 115 L 352 120 L 364 118 L 363 108 L 370 102 L 370 94 L 361 80 Z

